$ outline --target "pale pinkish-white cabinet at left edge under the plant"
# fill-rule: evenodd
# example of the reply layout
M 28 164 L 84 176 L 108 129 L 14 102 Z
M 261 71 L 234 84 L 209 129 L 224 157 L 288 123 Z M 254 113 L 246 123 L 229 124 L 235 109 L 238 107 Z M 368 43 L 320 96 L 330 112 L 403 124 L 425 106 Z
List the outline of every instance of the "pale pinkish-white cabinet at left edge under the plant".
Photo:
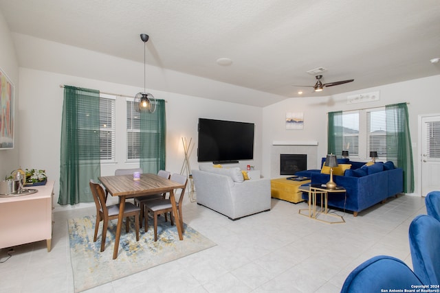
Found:
M 50 252 L 54 181 L 29 188 L 38 192 L 0 198 L 0 248 L 46 240 Z

